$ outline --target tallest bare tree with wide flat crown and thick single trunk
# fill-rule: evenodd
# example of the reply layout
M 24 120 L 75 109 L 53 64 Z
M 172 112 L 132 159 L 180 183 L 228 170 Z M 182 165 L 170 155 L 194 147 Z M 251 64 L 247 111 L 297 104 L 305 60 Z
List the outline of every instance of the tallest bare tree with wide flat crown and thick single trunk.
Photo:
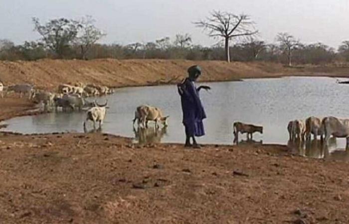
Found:
M 258 33 L 254 22 L 248 15 L 235 15 L 230 12 L 213 11 L 205 20 L 194 22 L 197 27 L 208 30 L 213 38 L 224 38 L 224 50 L 227 62 L 230 62 L 229 40 L 235 37 L 251 36 Z

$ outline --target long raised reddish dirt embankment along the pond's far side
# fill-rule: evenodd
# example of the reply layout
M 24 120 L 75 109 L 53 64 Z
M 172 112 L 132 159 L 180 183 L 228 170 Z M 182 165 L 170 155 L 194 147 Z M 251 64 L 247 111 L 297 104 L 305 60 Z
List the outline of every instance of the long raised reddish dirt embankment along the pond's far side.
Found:
M 55 90 L 61 83 L 96 83 L 124 87 L 176 83 L 190 65 L 203 68 L 201 81 L 227 81 L 241 78 L 278 77 L 287 75 L 348 76 L 347 67 L 285 68 L 273 63 L 242 63 L 185 60 L 39 60 L 0 61 L 0 80 L 5 85 L 30 83 Z

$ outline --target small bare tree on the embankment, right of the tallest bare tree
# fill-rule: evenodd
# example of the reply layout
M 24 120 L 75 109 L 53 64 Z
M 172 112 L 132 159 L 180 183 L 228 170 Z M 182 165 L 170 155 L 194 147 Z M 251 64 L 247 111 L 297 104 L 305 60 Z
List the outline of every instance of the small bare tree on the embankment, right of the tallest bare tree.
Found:
M 299 40 L 288 33 L 279 33 L 276 40 L 280 43 L 280 48 L 287 56 L 289 66 L 292 66 L 292 53 L 301 46 Z

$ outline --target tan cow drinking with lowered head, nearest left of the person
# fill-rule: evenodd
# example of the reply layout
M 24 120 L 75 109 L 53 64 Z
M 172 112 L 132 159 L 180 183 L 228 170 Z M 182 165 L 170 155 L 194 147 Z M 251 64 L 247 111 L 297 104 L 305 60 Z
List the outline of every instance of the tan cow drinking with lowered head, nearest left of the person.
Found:
M 155 121 L 155 128 L 158 129 L 160 127 L 159 122 L 164 126 L 168 126 L 168 118 L 169 116 L 164 116 L 159 108 L 142 105 L 137 107 L 135 111 L 133 124 L 135 124 L 135 121 L 138 119 L 138 126 L 142 124 L 143 127 L 148 127 L 148 121 Z

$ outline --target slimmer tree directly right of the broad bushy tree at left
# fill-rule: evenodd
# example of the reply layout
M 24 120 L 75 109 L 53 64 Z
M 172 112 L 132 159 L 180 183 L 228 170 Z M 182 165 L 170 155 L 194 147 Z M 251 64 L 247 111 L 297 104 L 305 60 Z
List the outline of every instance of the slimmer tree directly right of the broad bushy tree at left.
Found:
M 95 21 L 91 15 L 87 15 L 79 21 L 80 29 L 75 44 L 79 46 L 81 58 L 84 60 L 91 46 L 107 35 L 94 25 Z

